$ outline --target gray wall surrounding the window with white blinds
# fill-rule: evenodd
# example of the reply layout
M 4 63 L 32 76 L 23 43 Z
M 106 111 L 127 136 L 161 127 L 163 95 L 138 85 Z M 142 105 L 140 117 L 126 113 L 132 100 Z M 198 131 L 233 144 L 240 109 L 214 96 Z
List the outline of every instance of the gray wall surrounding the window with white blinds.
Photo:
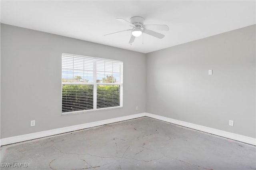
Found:
M 61 53 L 123 61 L 123 108 L 62 116 Z M 144 53 L 1 24 L 1 138 L 143 113 L 145 71 Z

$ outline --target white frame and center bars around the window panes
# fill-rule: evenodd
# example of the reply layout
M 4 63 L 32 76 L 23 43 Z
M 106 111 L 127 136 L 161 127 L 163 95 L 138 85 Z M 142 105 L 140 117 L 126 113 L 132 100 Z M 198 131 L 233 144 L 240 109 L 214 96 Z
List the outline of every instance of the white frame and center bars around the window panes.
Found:
M 89 57 L 85 55 L 75 55 L 75 54 L 69 54 L 69 53 L 62 53 L 61 54 L 61 61 L 63 55 L 70 55 L 73 57 L 84 57 L 88 59 L 93 59 L 93 82 L 92 83 L 63 83 L 61 81 L 61 114 L 62 115 L 73 115 L 73 114 L 79 114 L 79 113 L 86 113 L 86 112 L 94 112 L 94 111 L 103 111 L 103 110 L 111 110 L 111 109 L 119 109 L 123 108 L 123 61 L 113 60 L 113 59 L 105 59 L 105 58 L 99 58 L 99 57 Z M 119 83 L 100 83 L 97 82 L 97 59 L 98 60 L 104 60 L 104 61 L 114 61 L 120 63 L 120 82 Z M 61 71 L 62 71 L 62 62 L 61 62 Z M 61 72 L 62 74 L 62 72 Z M 61 76 L 62 77 L 62 76 Z M 62 85 L 93 85 L 93 109 L 88 110 L 80 110 L 80 111 L 69 111 L 69 112 L 62 112 Z M 120 106 L 114 106 L 114 107 L 104 107 L 104 108 L 98 108 L 97 109 L 97 86 L 98 85 L 120 85 Z

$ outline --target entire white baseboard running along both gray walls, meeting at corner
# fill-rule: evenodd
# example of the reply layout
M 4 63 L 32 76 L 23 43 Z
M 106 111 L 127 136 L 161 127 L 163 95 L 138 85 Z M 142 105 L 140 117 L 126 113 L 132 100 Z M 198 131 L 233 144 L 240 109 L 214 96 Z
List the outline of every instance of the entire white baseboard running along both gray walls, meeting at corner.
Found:
M 74 126 L 70 126 L 70 127 L 56 128 L 56 129 L 52 129 L 52 130 L 46 130 L 46 131 L 35 132 L 35 133 L 30 133 L 30 134 L 23 134 L 23 135 L 13 136 L 13 137 L 9 137 L 9 138 L 2 138 L 0 143 L 1 143 L 1 146 L 6 145 L 6 144 L 13 144 L 13 143 L 17 143 L 17 142 L 23 142 L 23 141 L 26 141 L 26 140 L 32 140 L 32 139 L 36 139 L 36 138 L 52 136 L 52 135 L 55 135 L 55 134 L 72 132 L 72 131 L 75 131 L 75 130 L 81 130 L 81 129 L 85 129 L 85 128 L 96 127 L 96 126 L 100 126 L 100 125 L 106 125 L 106 124 L 110 124 L 110 123 L 116 123 L 116 122 L 120 122 L 120 121 L 126 121 L 126 120 L 135 119 L 135 118 L 139 118 L 139 117 L 145 117 L 145 116 L 150 117 L 150 118 L 154 118 L 154 119 L 158 119 L 160 121 L 165 121 L 165 122 L 173 123 L 173 124 L 176 124 L 176 125 L 180 125 L 180 126 L 183 126 L 183 127 L 188 127 L 188 128 L 200 130 L 202 132 L 215 134 L 215 135 L 222 136 L 222 137 L 225 137 L 225 138 L 238 140 L 240 142 L 256 145 L 256 138 L 251 138 L 251 137 L 243 136 L 243 135 L 240 135 L 240 134 L 226 132 L 224 130 L 218 130 L 218 129 L 215 129 L 215 128 L 204 127 L 204 126 L 201 126 L 201 125 L 196 125 L 196 124 L 193 124 L 193 123 L 179 121 L 179 120 L 176 120 L 176 119 L 171 119 L 171 118 L 168 118 L 168 117 L 154 115 L 154 114 L 151 114 L 151 113 L 139 113 L 139 114 L 124 116 L 124 117 L 106 119 L 106 120 L 103 120 L 103 121 L 96 121 L 96 122 L 92 122 L 92 123 L 84 123 L 84 124 L 81 124 L 81 125 L 74 125 Z

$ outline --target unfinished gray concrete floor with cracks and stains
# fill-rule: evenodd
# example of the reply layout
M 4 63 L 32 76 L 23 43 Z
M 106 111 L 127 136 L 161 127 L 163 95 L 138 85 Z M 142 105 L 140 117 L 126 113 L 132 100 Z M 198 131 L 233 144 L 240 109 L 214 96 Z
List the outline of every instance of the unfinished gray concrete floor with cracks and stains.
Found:
M 148 117 L 1 147 L 1 169 L 256 169 L 256 148 Z

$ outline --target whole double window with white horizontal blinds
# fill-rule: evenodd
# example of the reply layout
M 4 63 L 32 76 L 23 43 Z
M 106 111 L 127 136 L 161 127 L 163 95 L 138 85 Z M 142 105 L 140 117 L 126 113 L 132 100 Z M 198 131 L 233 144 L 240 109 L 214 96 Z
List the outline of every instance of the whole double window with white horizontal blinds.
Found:
M 123 63 L 62 54 L 62 114 L 122 107 Z

